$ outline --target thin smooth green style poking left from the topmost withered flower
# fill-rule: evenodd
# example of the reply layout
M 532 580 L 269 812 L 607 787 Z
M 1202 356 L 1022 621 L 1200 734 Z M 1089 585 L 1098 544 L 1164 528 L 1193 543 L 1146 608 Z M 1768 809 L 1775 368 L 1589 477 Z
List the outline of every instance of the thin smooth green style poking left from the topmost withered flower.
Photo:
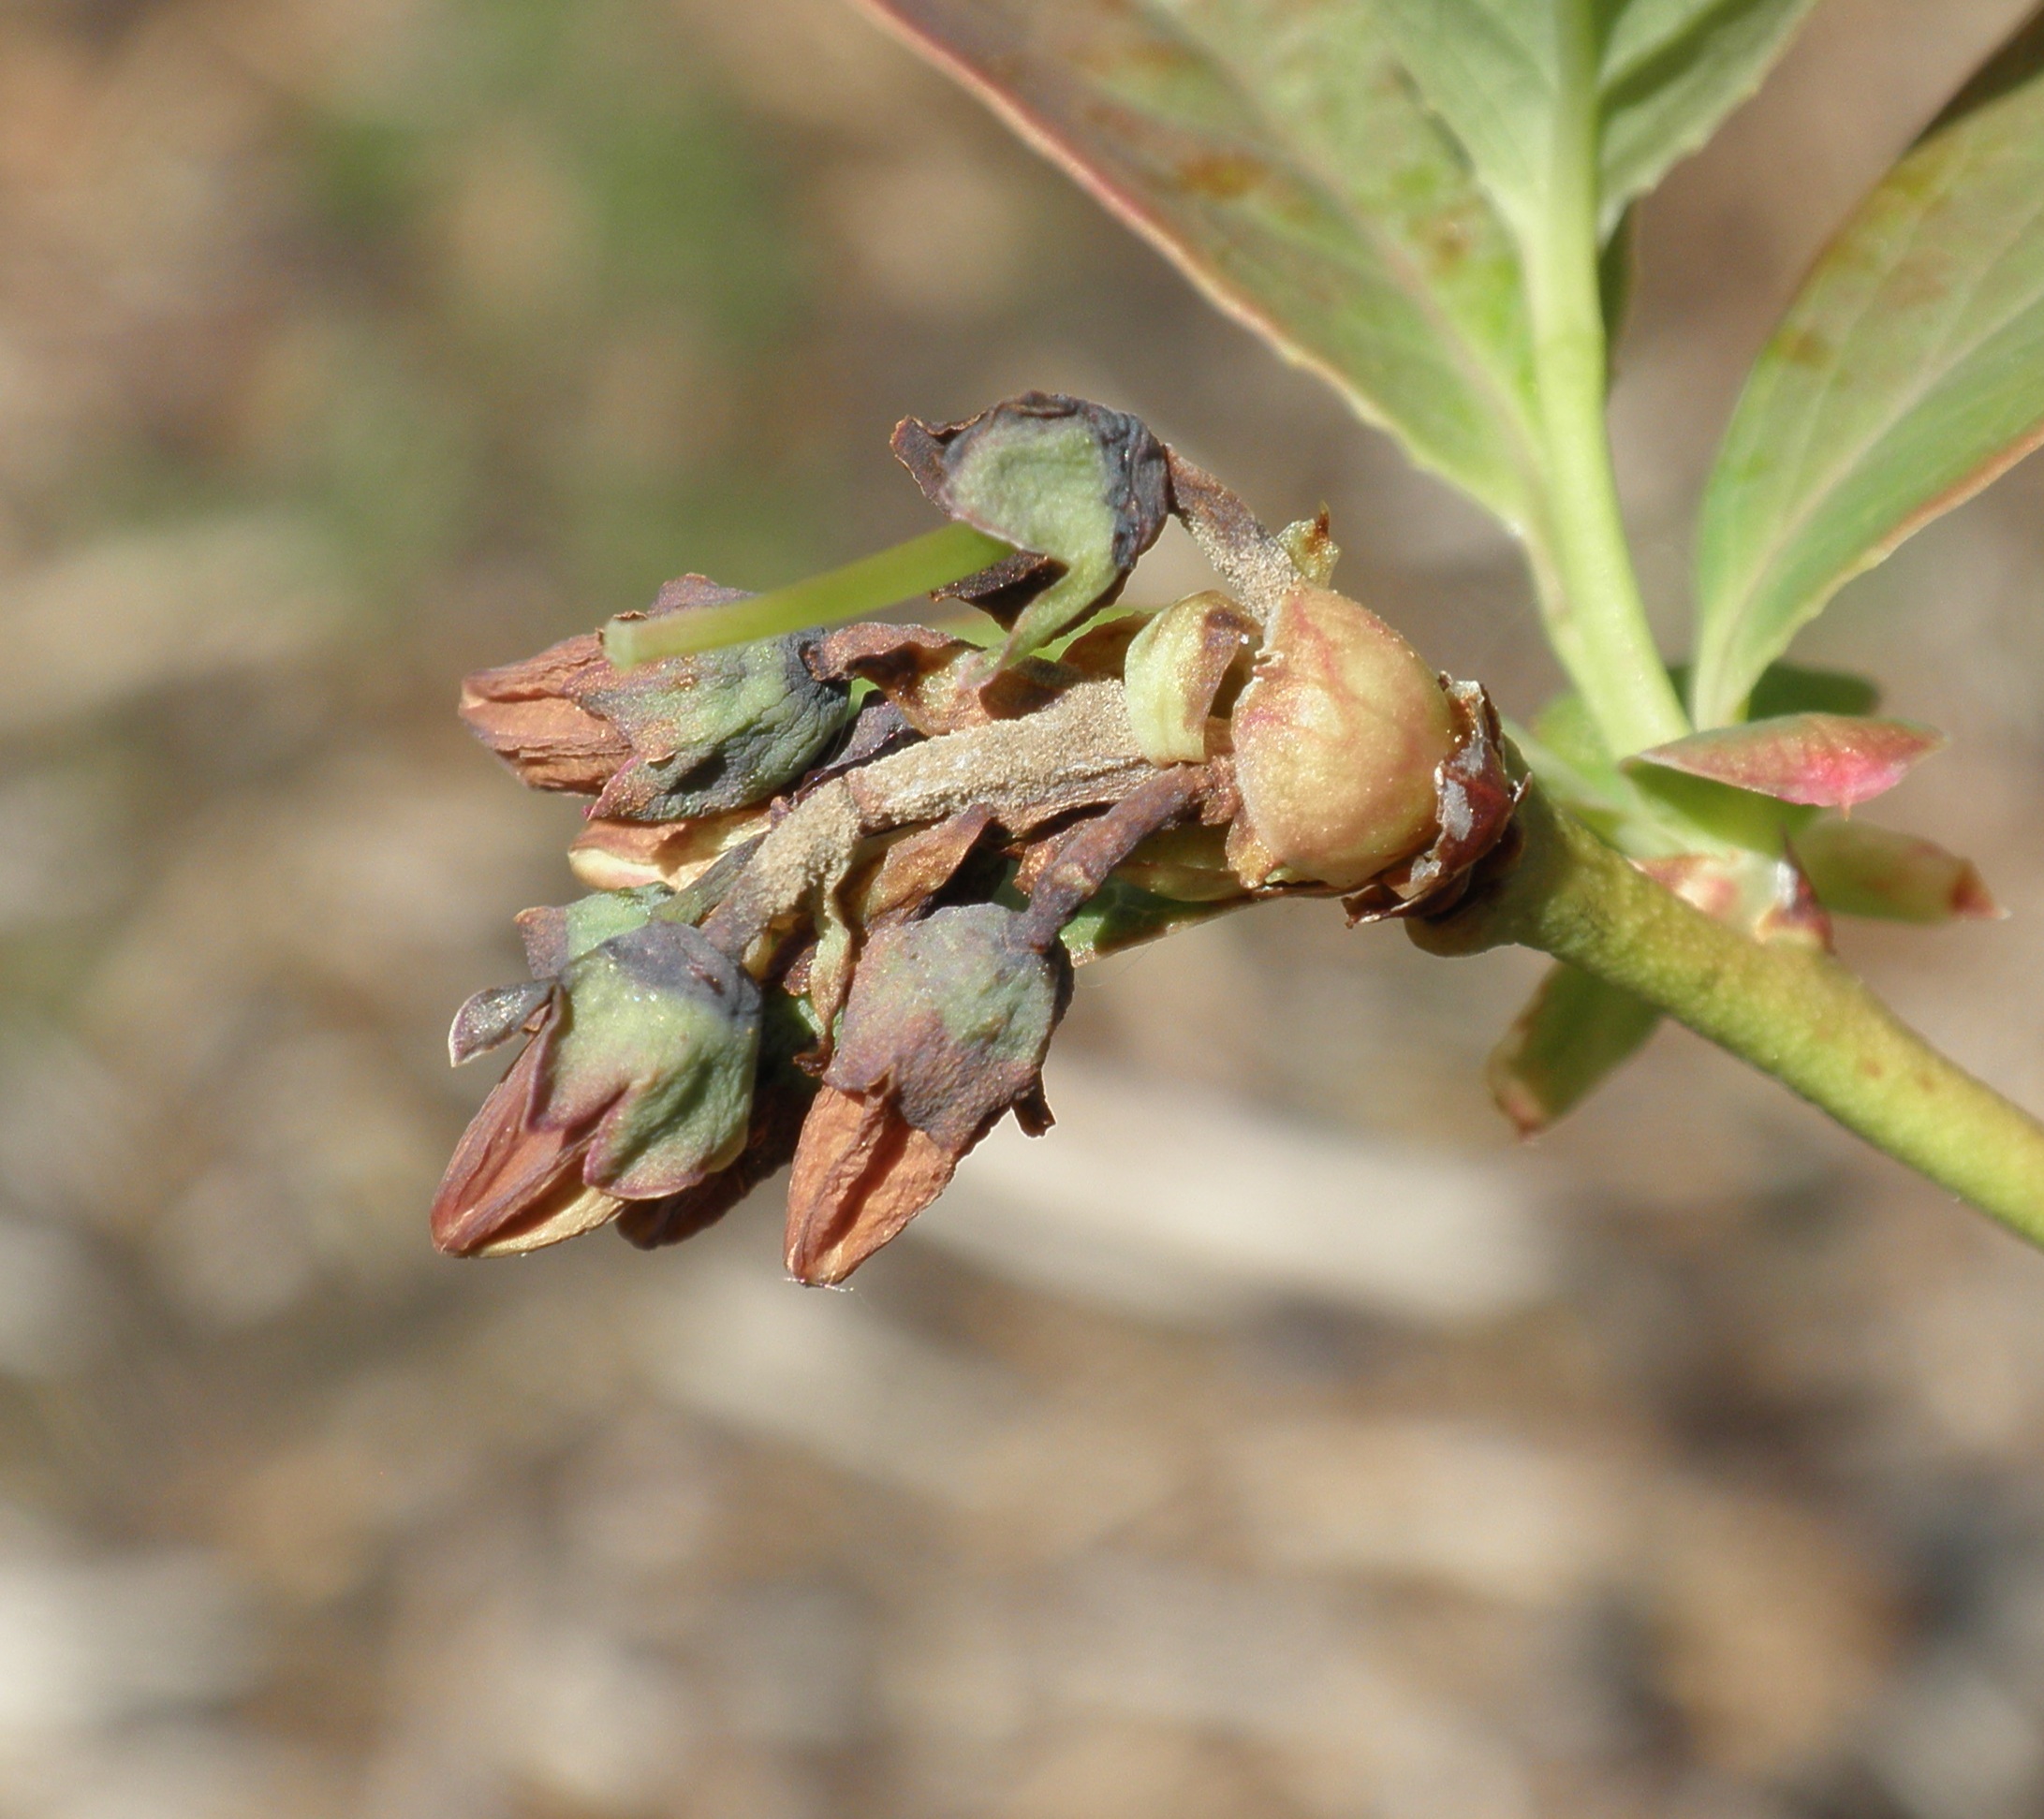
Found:
M 628 670 L 662 656 L 689 656 L 722 644 L 805 632 L 809 625 L 836 625 L 965 580 L 967 574 L 1008 554 L 1012 550 L 1000 538 L 975 531 L 967 523 L 948 523 L 928 535 L 910 538 L 905 544 L 752 599 L 722 607 L 689 607 L 658 619 L 619 615 L 603 627 L 603 654 Z

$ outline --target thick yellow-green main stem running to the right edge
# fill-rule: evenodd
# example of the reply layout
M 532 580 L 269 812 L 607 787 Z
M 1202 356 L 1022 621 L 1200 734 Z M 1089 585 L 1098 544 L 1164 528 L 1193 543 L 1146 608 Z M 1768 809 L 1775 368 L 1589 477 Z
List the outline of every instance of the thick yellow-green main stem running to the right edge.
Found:
M 2044 1245 L 2044 1124 L 1903 1024 L 1836 959 L 1762 946 L 1664 891 L 1535 785 L 1515 867 L 1435 924 L 1437 954 L 1517 942 L 1660 1006 L 1876 1149 Z

